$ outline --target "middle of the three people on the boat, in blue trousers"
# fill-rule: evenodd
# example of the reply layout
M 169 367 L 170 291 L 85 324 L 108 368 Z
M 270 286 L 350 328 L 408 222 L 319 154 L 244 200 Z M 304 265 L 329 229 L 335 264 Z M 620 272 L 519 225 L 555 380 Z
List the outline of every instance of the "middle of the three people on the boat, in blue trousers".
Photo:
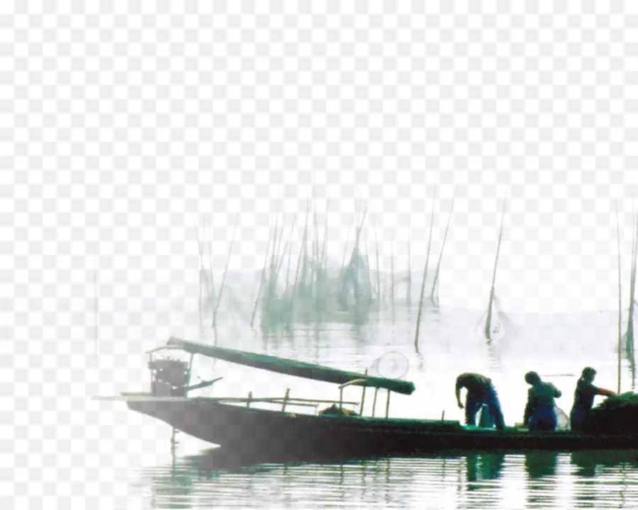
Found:
M 530 431 L 555 431 L 558 426 L 555 398 L 563 394 L 551 382 L 544 382 L 536 372 L 527 372 L 525 382 L 530 385 L 527 391 L 527 405 L 523 425 Z

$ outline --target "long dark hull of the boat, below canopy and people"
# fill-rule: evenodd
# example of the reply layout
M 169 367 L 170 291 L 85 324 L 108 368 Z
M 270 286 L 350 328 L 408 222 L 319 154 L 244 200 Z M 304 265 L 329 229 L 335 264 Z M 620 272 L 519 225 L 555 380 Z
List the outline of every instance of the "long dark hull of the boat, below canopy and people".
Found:
M 222 446 L 229 454 L 273 462 L 418 456 L 450 450 L 638 449 L 638 436 L 466 429 L 457 421 L 317 416 L 247 408 L 206 397 L 170 401 L 140 397 L 127 400 L 133 411 Z

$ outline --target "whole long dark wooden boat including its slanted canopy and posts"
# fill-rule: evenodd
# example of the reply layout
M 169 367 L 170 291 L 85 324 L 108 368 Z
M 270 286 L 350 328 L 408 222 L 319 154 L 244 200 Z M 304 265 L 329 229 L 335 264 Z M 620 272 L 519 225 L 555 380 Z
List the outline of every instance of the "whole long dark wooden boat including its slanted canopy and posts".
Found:
M 153 359 L 155 353 L 177 349 L 190 353 L 189 363 Z M 279 398 L 193 397 L 189 393 L 218 379 L 189 385 L 193 356 L 200 354 L 274 373 L 321 380 L 339 385 L 335 401 Z M 464 426 L 459 421 L 398 419 L 388 416 L 392 392 L 410 395 L 413 382 L 370 377 L 321 365 L 301 363 L 181 339 L 149 352 L 151 392 L 123 393 L 128 407 L 162 420 L 190 436 L 217 444 L 229 455 L 243 454 L 264 462 L 284 460 L 360 459 L 420 456 L 444 451 L 611 450 L 638 449 L 638 431 L 632 435 L 588 435 L 571 431 L 503 431 Z M 172 371 L 170 370 L 172 369 Z M 361 402 L 344 402 L 347 386 L 362 386 Z M 363 409 L 366 387 L 374 388 L 372 416 L 346 412 L 347 405 Z M 377 394 L 387 390 L 385 416 L 374 416 Z M 118 397 L 116 397 L 118 398 Z M 254 407 L 275 405 L 277 409 Z M 297 408 L 332 404 L 328 411 L 309 414 Z M 293 410 L 294 409 L 294 410 Z

